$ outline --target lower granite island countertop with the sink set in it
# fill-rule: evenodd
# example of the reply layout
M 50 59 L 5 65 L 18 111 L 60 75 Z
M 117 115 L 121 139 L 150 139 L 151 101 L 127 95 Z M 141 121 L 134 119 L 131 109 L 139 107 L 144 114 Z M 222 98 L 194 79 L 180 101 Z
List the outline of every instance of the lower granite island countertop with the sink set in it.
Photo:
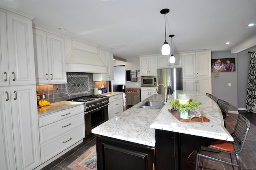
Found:
M 92 133 L 154 147 L 156 143 L 155 130 L 150 128 L 150 124 L 159 114 L 161 108 L 144 109 L 140 106 L 147 101 L 163 99 L 164 95 L 154 94 L 92 129 Z

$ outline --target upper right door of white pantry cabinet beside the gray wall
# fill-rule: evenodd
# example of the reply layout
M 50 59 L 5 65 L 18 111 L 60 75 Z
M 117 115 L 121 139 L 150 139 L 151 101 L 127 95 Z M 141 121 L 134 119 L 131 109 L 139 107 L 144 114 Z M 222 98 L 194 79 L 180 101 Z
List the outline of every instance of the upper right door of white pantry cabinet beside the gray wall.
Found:
M 196 52 L 196 77 L 211 78 L 211 52 Z

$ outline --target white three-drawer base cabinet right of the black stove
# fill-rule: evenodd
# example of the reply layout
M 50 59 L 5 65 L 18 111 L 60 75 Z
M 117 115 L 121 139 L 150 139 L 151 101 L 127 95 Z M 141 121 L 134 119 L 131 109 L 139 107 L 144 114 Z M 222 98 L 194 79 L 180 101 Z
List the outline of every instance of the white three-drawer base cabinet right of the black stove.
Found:
M 123 112 L 123 94 L 109 97 L 108 119 L 114 118 Z

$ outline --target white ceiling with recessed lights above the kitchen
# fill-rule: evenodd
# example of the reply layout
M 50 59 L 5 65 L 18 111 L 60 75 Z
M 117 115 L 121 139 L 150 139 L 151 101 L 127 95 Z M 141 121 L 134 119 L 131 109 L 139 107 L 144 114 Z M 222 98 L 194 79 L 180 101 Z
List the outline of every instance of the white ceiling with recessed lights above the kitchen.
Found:
M 168 35 L 175 35 L 174 53 L 232 50 L 256 36 L 256 26 L 247 26 L 256 22 L 255 0 L 1 0 L 0 6 L 35 17 L 40 28 L 126 59 L 161 53 L 164 8 L 170 9 L 166 41 L 171 45 Z

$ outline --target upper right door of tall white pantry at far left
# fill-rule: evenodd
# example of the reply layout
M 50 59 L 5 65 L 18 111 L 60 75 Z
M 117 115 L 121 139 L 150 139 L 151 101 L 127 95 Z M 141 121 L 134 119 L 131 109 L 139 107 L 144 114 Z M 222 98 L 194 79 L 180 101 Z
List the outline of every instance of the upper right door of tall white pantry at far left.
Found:
M 32 21 L 7 13 L 10 85 L 36 84 Z

